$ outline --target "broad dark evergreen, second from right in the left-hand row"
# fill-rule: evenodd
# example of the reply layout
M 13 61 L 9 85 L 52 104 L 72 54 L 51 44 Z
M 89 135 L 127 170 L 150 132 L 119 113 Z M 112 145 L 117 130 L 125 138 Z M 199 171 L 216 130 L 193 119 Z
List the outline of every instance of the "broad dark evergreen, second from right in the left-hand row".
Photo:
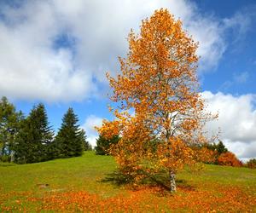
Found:
M 49 126 L 45 107 L 39 103 L 20 124 L 14 146 L 15 162 L 30 164 L 48 160 L 53 136 L 54 131 Z

